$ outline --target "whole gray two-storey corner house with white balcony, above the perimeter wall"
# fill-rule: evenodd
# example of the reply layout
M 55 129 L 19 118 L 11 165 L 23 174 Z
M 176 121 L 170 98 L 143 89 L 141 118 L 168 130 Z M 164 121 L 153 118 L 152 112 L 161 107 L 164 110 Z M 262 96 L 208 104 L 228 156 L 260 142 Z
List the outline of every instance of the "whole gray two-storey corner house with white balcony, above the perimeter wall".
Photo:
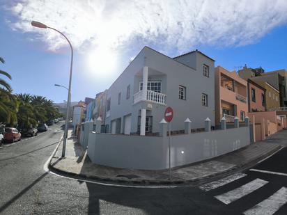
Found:
M 144 47 L 107 90 L 105 124 L 112 134 L 155 134 L 167 106 L 173 108 L 172 131 L 183 121 L 203 128 L 215 125 L 214 60 L 200 51 L 170 58 Z

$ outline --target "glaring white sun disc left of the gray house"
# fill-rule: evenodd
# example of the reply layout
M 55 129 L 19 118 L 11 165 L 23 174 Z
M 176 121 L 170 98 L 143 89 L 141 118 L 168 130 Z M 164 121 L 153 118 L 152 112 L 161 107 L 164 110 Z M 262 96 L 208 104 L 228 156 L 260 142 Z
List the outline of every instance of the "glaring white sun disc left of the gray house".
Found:
M 87 58 L 88 70 L 100 77 L 111 77 L 116 70 L 117 56 L 108 48 L 91 51 Z

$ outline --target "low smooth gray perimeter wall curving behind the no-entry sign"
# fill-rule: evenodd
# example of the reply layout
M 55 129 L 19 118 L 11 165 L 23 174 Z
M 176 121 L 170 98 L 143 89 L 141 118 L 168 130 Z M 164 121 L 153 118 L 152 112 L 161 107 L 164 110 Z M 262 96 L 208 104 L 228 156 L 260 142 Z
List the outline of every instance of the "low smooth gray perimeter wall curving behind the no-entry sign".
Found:
M 217 157 L 249 143 L 249 127 L 171 136 L 171 167 Z M 90 132 L 88 138 L 88 157 L 104 166 L 166 169 L 168 152 L 167 137 Z

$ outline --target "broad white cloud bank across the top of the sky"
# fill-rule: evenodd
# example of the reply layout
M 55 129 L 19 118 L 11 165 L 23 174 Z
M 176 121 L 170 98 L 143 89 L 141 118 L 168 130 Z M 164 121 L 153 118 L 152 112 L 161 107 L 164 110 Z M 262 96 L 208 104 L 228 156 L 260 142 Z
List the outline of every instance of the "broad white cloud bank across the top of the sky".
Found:
M 249 45 L 287 22 L 286 0 L 26 0 L 9 9 L 17 17 L 10 22 L 13 28 L 37 31 L 52 50 L 65 41 L 52 31 L 32 28 L 31 20 L 60 29 L 78 49 L 128 47 L 139 41 L 166 52 Z

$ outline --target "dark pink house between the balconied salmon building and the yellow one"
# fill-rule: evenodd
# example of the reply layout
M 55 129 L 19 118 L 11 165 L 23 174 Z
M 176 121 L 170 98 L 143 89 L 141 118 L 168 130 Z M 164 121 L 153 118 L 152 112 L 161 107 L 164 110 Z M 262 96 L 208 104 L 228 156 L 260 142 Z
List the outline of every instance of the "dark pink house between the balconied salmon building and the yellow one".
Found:
M 250 79 L 247 80 L 248 112 L 266 111 L 265 88 Z

